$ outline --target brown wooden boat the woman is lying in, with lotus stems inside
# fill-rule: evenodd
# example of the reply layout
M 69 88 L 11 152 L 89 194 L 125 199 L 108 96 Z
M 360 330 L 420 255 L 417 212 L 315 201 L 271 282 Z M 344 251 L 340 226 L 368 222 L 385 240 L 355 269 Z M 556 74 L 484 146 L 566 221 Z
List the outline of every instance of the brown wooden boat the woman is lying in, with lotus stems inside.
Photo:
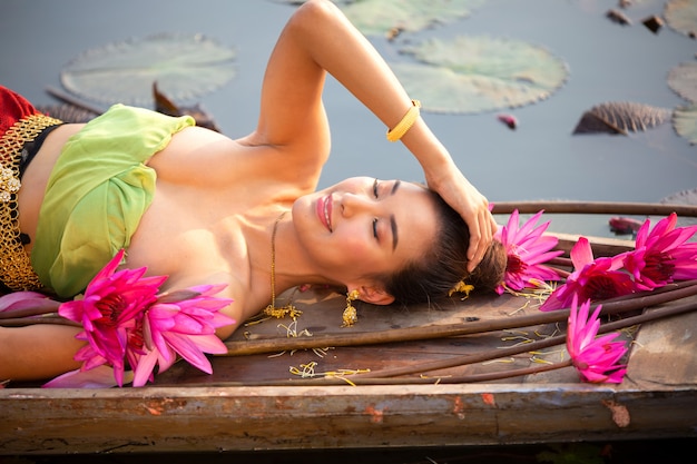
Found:
M 575 241 L 560 236 L 563 249 Z M 632 246 L 592 244 L 596 256 Z M 568 357 L 556 337 L 566 315 L 541 318 L 552 316 L 539 312 L 533 295 L 454 295 L 438 307 L 356 305 L 359 322 L 342 327 L 343 295 L 296 292 L 302 315 L 239 329 L 232 355 L 212 359 L 213 375 L 177 363 L 143 388 L 0 388 L 0 454 L 695 437 L 697 283 L 669 287 L 632 298 L 638 309 L 608 316 L 679 312 L 622 329 L 631 348 L 619 385 L 581 383 L 573 367 L 495 377 Z M 664 303 L 647 299 L 661 294 Z

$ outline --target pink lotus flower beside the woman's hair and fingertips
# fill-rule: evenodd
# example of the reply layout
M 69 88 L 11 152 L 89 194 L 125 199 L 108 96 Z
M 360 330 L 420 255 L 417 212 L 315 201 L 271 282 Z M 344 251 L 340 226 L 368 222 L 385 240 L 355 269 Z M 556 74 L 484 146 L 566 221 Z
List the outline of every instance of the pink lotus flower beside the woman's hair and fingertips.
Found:
M 563 254 L 561 250 L 550 251 L 559 240 L 556 237 L 542 235 L 549 227 L 549 221 L 534 227 L 542 213 L 539 211 L 522 227 L 519 227 L 518 209 L 516 209 L 508 224 L 494 235 L 494 238 L 503 244 L 508 255 L 503 284 L 497 287 L 499 295 L 503 294 L 507 287 L 521 290 L 526 287 L 537 287 L 531 285 L 534 280 L 559 280 L 559 275 L 542 264 Z

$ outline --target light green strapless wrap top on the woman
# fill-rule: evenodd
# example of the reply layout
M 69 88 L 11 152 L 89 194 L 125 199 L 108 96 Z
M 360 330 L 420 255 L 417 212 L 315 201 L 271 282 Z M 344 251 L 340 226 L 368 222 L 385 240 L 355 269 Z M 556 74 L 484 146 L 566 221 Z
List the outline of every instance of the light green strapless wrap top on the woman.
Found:
M 155 195 L 155 170 L 145 165 L 194 126 L 143 108 L 115 105 L 72 136 L 46 188 L 31 265 L 59 296 L 81 293 L 127 248 Z

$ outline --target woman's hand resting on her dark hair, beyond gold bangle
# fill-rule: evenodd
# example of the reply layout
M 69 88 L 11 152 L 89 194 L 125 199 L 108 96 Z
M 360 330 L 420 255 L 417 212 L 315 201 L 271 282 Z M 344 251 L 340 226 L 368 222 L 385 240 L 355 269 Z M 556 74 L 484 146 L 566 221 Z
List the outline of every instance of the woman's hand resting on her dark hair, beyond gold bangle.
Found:
M 489 201 L 454 165 L 440 175 L 426 172 L 426 184 L 460 213 L 468 225 L 468 272 L 471 273 L 481 263 L 498 228 L 489 210 Z

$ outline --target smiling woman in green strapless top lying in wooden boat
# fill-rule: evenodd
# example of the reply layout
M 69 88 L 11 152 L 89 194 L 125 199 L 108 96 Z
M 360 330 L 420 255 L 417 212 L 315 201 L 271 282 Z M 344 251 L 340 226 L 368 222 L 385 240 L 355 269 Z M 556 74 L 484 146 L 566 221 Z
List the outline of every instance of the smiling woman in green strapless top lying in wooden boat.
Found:
M 372 178 L 314 191 L 330 154 L 322 103 L 326 72 L 401 138 L 440 197 L 414 184 Z M 24 249 L 41 283 L 62 297 L 81 292 L 119 248 L 127 249 L 124 267 L 168 275 L 167 288 L 227 284 L 219 296 L 234 299 L 224 313 L 236 323 L 218 329 L 220 338 L 274 294 L 300 284 L 342 286 L 379 305 L 395 297 L 410 303 L 441 296 L 429 293 L 446 293 L 474 270 L 497 226 L 487 199 L 418 116 L 416 102 L 341 11 L 330 1 L 308 1 L 289 19 L 271 56 L 258 125 L 248 136 L 232 140 L 192 127 L 186 117 L 163 119 L 121 106 L 86 127 L 52 129 L 26 167 L 17 196 Z M 90 164 L 96 152 L 102 157 Z M 134 152 L 140 157 L 135 161 Z M 119 157 L 132 165 L 125 174 L 119 166 L 107 166 L 110 174 L 97 171 Z M 80 190 L 102 175 L 106 182 Z M 81 195 L 85 201 L 65 206 Z M 460 217 L 460 226 L 444 219 L 453 213 L 441 197 L 467 227 Z M 94 227 L 104 230 L 86 226 L 92 208 L 101 208 L 105 219 Z M 444 220 L 454 225 L 444 227 Z M 457 244 L 435 259 L 459 268 L 451 267 L 452 277 L 444 279 L 443 270 L 431 266 L 432 280 L 442 288 L 422 286 L 421 278 L 390 282 L 433 255 L 443 233 Z M 499 258 L 493 284 L 501 277 L 501 256 L 490 253 Z M 72 356 L 81 343 L 73 327 L 0 330 L 0 379 L 46 378 L 78 367 Z

